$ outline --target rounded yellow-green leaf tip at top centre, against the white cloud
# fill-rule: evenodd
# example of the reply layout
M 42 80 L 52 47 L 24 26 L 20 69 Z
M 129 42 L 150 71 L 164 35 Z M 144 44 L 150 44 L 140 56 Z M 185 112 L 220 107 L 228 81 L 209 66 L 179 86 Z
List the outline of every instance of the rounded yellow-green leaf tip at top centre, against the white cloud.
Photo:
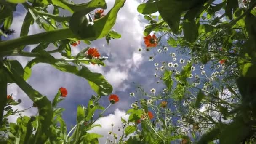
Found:
M 141 14 L 155 13 L 158 11 L 157 3 L 158 2 L 142 3 L 137 7 L 137 11 Z

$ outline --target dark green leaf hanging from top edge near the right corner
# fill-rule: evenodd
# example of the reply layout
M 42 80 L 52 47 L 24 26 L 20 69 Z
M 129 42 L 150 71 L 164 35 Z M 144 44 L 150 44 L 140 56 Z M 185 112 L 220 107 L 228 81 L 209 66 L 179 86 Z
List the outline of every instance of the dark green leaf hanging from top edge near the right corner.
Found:
M 239 8 L 238 0 L 227 0 L 225 13 L 229 19 L 233 19 L 233 13 Z

